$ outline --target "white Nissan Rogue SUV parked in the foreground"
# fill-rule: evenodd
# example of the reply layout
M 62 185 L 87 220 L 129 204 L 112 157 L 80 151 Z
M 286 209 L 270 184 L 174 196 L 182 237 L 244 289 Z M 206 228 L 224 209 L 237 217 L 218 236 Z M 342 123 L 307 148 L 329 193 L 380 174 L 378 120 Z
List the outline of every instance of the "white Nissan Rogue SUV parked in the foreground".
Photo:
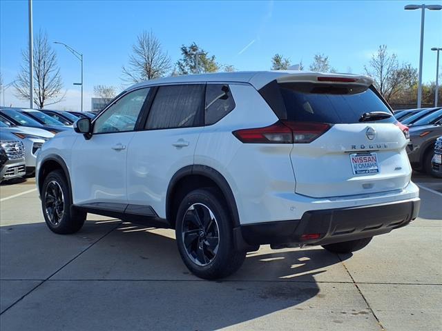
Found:
M 368 77 L 169 77 L 45 143 L 37 185 L 53 232 L 87 212 L 173 228 L 187 268 L 216 279 L 262 244 L 353 252 L 410 223 L 408 142 Z

